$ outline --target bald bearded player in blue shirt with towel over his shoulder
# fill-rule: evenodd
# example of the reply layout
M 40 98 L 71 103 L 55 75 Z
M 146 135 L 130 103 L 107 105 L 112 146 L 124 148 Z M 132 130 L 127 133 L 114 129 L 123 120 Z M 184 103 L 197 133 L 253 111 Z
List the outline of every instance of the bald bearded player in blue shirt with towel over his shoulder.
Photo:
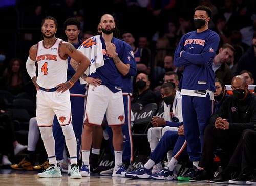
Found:
M 106 115 L 108 124 L 113 131 L 113 146 L 115 150 L 115 167 L 112 176 L 124 177 L 121 125 L 125 124 L 125 116 L 122 98 L 122 76 L 129 73 L 133 56 L 130 54 L 131 50 L 124 41 L 113 37 L 115 28 L 113 16 L 110 14 L 103 15 L 100 20 L 100 27 L 102 36 L 95 36 L 84 41 L 83 45 L 79 48 L 80 51 L 86 52 L 89 46 L 95 45 L 93 47 L 96 47 L 98 50 L 102 44 L 102 54 L 99 54 L 100 56 L 97 55 L 97 58 L 100 58 L 102 55 L 104 59 L 104 65 L 96 67 L 96 72 L 89 75 L 94 81 L 98 80 L 100 85 L 94 86 L 89 82 L 85 111 L 86 120 L 84 121 L 82 133 L 83 165 L 80 173 L 82 176 L 90 176 L 89 155 L 93 130 L 95 125 L 100 126 L 102 124 L 103 117 Z

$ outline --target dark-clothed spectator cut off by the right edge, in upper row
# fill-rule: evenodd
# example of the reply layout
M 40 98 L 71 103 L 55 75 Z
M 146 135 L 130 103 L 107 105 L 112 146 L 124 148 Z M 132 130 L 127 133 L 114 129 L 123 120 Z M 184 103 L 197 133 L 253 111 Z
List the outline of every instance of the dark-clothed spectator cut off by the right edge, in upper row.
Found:
M 252 73 L 253 78 L 256 78 L 256 31 L 253 34 L 252 45 L 239 59 L 236 74 L 240 74 L 242 70 L 248 70 Z M 254 82 L 255 85 L 255 82 Z

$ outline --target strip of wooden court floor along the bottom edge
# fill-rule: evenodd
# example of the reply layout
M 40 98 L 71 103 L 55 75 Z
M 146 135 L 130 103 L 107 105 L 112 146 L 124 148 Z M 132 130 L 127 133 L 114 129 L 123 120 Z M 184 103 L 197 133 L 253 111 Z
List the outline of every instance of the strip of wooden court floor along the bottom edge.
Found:
M 129 178 L 112 178 L 109 176 L 92 175 L 82 179 L 70 179 L 69 176 L 63 175 L 62 178 L 38 178 L 34 171 L 13 171 L 11 169 L 0 169 L 0 185 L 34 185 L 34 186 L 109 186 L 109 185 L 169 185 L 169 186 L 202 186 L 216 185 L 210 183 L 191 183 L 177 181 L 154 181 L 154 180 L 135 180 Z M 228 184 L 218 184 L 228 185 Z M 248 186 L 248 185 L 247 185 Z

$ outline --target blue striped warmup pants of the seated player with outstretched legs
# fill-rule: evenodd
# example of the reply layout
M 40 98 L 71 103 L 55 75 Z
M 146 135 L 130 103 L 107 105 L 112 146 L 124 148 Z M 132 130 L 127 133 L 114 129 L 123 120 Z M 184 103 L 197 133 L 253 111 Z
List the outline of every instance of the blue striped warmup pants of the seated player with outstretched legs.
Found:
M 156 164 L 161 162 L 166 153 L 173 148 L 173 157 L 180 161 L 186 151 L 186 140 L 184 135 L 178 135 L 177 131 L 166 131 L 157 144 L 155 150 L 150 154 L 150 159 Z

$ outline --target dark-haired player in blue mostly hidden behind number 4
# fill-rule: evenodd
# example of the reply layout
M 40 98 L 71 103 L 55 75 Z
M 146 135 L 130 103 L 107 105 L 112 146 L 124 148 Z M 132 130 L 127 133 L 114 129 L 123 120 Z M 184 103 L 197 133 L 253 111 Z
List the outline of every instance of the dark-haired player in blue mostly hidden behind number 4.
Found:
M 65 34 L 67 35 L 68 42 L 72 43 L 77 49 L 81 45 L 81 40 L 78 39 L 80 33 L 80 22 L 75 18 L 68 18 L 64 22 Z M 70 79 L 75 70 L 70 65 L 70 57 L 68 58 L 68 72 L 67 77 Z M 77 81 L 73 87 L 70 88 L 70 101 L 71 101 L 71 112 L 72 112 L 72 126 L 76 136 L 77 142 L 77 159 L 80 159 L 80 148 L 81 148 L 81 136 L 83 126 L 83 115 L 84 115 L 84 94 L 85 85 L 81 85 L 80 81 Z M 65 147 L 65 138 L 61 127 L 58 125 L 58 120 L 54 117 L 53 121 L 53 136 L 55 139 L 55 153 L 58 161 L 63 159 L 63 150 Z

